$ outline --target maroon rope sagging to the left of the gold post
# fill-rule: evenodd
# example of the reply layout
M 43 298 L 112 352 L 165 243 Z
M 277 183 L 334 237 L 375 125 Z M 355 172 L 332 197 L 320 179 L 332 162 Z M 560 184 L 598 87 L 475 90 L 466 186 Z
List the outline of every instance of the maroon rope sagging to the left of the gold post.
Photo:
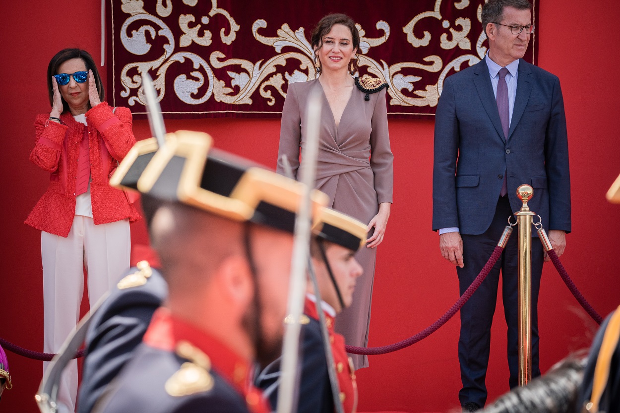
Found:
M 448 322 L 448 320 L 451 319 L 454 316 L 454 314 L 458 313 L 461 307 L 463 307 L 463 305 L 467 302 L 467 300 L 469 300 L 469 297 L 471 297 L 474 291 L 476 291 L 477 288 L 480 286 L 480 284 L 482 284 L 482 282 L 484 281 L 484 278 L 486 278 L 487 275 L 489 275 L 489 271 L 493 268 L 493 266 L 495 265 L 495 262 L 497 262 L 497 259 L 500 257 L 500 255 L 502 255 L 502 251 L 503 251 L 503 247 L 496 246 L 487 264 L 484 266 L 484 268 L 482 268 L 482 270 L 480 271 L 480 273 L 478 274 L 474 282 L 472 282 L 471 285 L 467 287 L 467 290 L 465 290 L 465 292 L 463 293 L 463 295 L 461 295 L 459 300 L 456 301 L 456 303 L 454 303 L 454 305 L 445 314 L 443 314 L 443 316 L 441 316 L 440 319 L 433 322 L 433 324 L 431 324 L 424 330 L 418 332 L 418 334 L 412 335 L 411 337 L 409 337 L 409 339 L 405 339 L 405 340 L 402 340 L 402 341 L 399 341 L 397 343 L 390 344 L 390 345 L 384 345 L 382 347 L 356 347 L 353 345 L 347 345 L 345 346 L 347 353 L 365 354 L 365 355 L 377 355 L 377 354 L 391 353 L 391 352 L 395 352 L 396 350 L 401 350 L 401 349 L 404 349 L 405 347 L 409 347 L 410 345 L 415 344 L 418 341 L 425 339 L 429 335 L 433 334 L 433 332 L 437 331 L 439 327 L 446 324 L 446 322 Z

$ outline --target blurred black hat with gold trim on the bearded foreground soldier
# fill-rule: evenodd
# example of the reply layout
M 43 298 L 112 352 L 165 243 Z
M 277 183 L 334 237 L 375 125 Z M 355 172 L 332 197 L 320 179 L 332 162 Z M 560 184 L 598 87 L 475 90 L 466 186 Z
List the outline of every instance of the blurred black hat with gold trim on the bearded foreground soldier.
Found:
M 206 133 L 177 131 L 166 135 L 162 148 L 156 144 L 154 140 L 136 143 L 110 184 L 231 220 L 293 232 L 303 184 L 211 148 L 212 139 Z M 316 218 L 328 197 L 313 190 L 311 200 Z

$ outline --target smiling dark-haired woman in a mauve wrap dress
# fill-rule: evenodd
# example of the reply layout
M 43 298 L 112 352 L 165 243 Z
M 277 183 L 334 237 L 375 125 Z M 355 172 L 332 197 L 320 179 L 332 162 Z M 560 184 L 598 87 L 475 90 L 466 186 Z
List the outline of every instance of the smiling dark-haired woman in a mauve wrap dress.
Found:
M 306 143 L 306 109 L 314 89 L 323 96 L 316 188 L 329 195 L 330 207 L 368 223 L 370 237 L 356 259 L 364 268 L 353 304 L 336 318 L 336 331 L 348 345 L 368 344 L 376 247 L 383 241 L 392 203 L 392 152 L 387 130 L 386 84 L 353 78 L 360 35 L 344 14 L 329 14 L 312 32 L 317 78 L 288 86 L 280 128 L 278 173 L 282 156 L 296 177 L 299 148 Z M 353 355 L 355 368 L 368 358 Z

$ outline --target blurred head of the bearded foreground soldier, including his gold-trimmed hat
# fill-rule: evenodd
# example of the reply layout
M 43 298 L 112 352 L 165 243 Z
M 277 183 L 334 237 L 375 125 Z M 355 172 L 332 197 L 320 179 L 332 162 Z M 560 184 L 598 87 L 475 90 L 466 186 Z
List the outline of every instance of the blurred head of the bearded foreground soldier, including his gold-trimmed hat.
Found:
M 303 185 L 211 149 L 204 133 L 168 135 L 139 179 L 130 178 L 131 167 L 119 167 L 133 180 L 128 187 L 143 193 L 169 286 L 166 306 L 239 355 L 266 364 L 281 351 Z M 313 211 L 326 202 L 313 192 Z

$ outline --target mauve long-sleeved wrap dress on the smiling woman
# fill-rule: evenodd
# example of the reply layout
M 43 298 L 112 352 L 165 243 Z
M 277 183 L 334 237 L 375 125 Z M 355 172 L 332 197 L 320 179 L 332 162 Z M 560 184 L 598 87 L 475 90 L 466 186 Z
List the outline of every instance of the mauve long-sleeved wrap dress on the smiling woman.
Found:
M 318 79 L 290 84 L 282 111 L 277 171 L 285 174 L 281 156 L 286 155 L 297 177 L 299 148 L 306 144 L 308 97 L 315 88 L 321 90 L 323 97 L 316 188 L 329 195 L 330 207 L 368 224 L 378 212 L 379 203 L 392 202 L 394 156 L 387 130 L 385 89 L 370 94 L 370 100 L 365 100 L 366 94 L 354 86 L 336 128 Z M 357 280 L 352 306 L 336 317 L 335 329 L 348 345 L 365 347 L 376 248 L 363 247 L 355 258 L 364 273 Z M 355 368 L 368 366 L 366 356 L 352 355 L 352 358 Z

